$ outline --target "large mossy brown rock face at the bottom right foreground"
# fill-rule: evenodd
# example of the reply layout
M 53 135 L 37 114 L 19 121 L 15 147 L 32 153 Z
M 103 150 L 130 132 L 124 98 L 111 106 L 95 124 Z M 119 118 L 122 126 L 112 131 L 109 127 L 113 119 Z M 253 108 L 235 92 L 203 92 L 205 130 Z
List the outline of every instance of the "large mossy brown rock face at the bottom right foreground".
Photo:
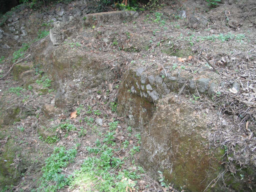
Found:
M 172 95 L 158 103 L 142 136 L 140 162 L 155 172 L 162 170 L 168 182 L 176 186 L 203 191 L 218 175 L 216 170 L 221 169 L 219 160 L 223 154 L 211 153 L 202 145 L 205 120 L 197 112 L 193 114 L 186 103 Z

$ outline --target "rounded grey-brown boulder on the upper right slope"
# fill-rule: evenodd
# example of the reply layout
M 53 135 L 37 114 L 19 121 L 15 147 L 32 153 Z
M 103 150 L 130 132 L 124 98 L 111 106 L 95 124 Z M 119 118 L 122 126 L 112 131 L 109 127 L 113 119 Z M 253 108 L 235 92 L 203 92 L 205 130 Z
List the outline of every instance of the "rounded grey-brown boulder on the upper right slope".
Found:
M 188 17 L 188 26 L 193 29 L 200 29 L 206 27 L 208 20 L 206 17 L 199 14 L 190 14 Z

